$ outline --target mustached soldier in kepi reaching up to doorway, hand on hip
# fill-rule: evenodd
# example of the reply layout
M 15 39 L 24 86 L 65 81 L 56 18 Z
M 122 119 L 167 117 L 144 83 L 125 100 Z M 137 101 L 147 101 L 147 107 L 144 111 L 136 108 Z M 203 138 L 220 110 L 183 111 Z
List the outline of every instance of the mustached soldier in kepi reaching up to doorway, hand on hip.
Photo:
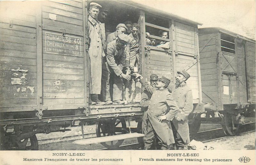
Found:
M 174 118 L 179 110 L 177 103 L 173 100 L 172 95 L 167 90 L 170 80 L 162 76 L 158 79 L 156 87 L 152 87 L 146 80 L 137 73 L 136 78 L 148 92 L 152 93 L 148 105 L 148 126 L 144 138 L 144 149 L 148 150 L 152 145 L 152 139 L 157 137 L 161 149 L 172 149 L 175 143 L 170 120 Z

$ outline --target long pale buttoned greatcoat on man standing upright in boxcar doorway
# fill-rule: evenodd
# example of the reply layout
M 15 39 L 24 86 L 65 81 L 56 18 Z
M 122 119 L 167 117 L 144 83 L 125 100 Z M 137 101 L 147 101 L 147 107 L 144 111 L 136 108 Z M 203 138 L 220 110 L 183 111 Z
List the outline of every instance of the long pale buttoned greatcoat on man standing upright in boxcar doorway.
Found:
M 89 47 L 89 74 L 91 78 L 90 93 L 100 94 L 101 90 L 101 62 L 105 56 L 102 47 L 102 36 L 100 33 L 100 22 L 88 18 L 88 36 L 90 39 Z

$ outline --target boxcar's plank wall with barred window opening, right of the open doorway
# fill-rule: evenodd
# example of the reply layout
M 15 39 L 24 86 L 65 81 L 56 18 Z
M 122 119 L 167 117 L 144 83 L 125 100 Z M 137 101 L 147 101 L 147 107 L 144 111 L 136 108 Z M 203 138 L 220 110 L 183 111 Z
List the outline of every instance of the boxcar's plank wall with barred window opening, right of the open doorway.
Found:
M 147 15 L 146 15 L 147 16 Z M 141 17 L 145 17 L 141 13 Z M 168 20 L 167 20 L 168 21 Z M 140 22 L 141 27 L 145 27 L 145 22 Z M 187 25 L 181 21 L 169 20 L 169 30 L 162 28 L 162 30 L 169 31 L 170 49 L 157 48 L 146 46 L 144 74 L 148 80 L 151 74 L 158 76 L 165 76 L 174 84 L 177 71 L 186 70 L 190 74 L 187 83 L 192 88 L 193 103 L 202 102 L 201 94 L 201 76 L 199 51 L 198 51 L 198 32 L 197 25 Z M 144 24 L 143 24 L 144 23 Z M 146 23 L 146 25 L 148 25 Z M 154 27 L 153 25 L 151 25 Z M 160 28 L 155 26 L 156 28 Z M 142 28 L 142 32 L 145 29 Z M 143 36 L 143 33 L 141 34 Z M 198 66 L 199 65 L 199 66 Z M 198 111 L 199 112 L 199 111 Z

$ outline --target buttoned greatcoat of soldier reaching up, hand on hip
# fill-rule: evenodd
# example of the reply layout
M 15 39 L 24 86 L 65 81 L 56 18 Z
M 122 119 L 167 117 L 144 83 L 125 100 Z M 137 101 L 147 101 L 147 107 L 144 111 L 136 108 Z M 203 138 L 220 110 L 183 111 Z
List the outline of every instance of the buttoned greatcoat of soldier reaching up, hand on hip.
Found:
M 152 87 L 143 78 L 140 83 L 146 90 L 152 93 L 151 99 L 148 105 L 148 119 L 153 126 L 156 134 L 166 144 L 170 145 L 175 143 L 172 133 L 172 126 L 169 120 L 172 120 L 179 110 L 177 103 L 173 100 L 172 95 L 166 89 L 158 90 L 156 87 Z M 167 120 L 160 122 L 157 117 L 165 115 Z

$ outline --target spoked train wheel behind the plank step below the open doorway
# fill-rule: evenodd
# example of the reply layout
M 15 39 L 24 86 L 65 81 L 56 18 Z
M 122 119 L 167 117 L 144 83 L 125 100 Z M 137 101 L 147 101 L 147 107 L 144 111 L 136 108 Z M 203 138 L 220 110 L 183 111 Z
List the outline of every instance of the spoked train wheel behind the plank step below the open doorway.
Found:
M 126 123 L 124 118 L 99 121 L 96 125 L 97 137 L 113 136 L 125 133 L 129 133 L 129 131 L 127 131 L 126 129 Z M 124 140 L 108 141 L 100 144 L 109 149 L 115 149 L 119 147 L 123 143 L 123 141 Z

